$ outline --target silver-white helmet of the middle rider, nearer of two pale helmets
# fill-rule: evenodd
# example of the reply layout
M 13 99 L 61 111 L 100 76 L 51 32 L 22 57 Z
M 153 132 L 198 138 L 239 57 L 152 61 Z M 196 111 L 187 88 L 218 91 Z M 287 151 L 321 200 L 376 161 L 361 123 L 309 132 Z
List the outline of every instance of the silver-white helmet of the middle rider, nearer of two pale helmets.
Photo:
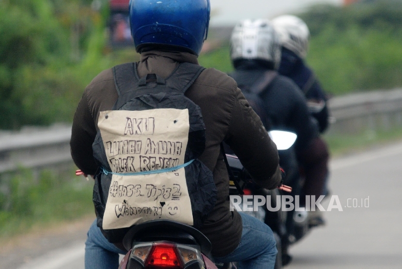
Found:
M 264 60 L 274 68 L 280 63 L 278 34 L 267 19 L 243 20 L 238 23 L 231 37 L 231 59 Z

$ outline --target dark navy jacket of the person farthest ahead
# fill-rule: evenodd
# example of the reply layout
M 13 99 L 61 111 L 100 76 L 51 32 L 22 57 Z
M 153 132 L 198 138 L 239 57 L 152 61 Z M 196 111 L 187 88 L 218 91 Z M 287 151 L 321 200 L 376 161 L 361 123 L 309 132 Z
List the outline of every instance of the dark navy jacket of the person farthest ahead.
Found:
M 325 102 L 325 106 L 321 111 L 311 112 L 311 115 L 318 121 L 320 133 L 325 132 L 328 128 L 329 118 L 328 106 L 326 104 L 327 97 L 312 70 L 292 51 L 282 48 L 282 57 L 278 72 L 280 75 L 291 78 L 300 90 L 302 90 L 307 100 Z

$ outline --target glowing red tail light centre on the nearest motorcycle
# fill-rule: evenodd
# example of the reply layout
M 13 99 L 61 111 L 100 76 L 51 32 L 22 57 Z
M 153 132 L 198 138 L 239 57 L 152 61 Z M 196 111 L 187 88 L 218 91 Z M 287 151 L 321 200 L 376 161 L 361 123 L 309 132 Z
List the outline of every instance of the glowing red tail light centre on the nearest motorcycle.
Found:
M 183 269 L 181 259 L 175 245 L 158 243 L 152 249 L 145 261 L 146 269 Z

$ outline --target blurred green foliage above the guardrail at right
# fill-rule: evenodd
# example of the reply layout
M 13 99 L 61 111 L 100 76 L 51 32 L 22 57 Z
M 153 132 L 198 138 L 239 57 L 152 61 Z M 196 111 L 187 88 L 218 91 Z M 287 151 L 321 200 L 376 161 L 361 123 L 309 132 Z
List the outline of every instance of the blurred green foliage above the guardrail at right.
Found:
M 402 86 L 402 2 L 318 5 L 299 15 L 311 32 L 307 61 L 333 94 Z

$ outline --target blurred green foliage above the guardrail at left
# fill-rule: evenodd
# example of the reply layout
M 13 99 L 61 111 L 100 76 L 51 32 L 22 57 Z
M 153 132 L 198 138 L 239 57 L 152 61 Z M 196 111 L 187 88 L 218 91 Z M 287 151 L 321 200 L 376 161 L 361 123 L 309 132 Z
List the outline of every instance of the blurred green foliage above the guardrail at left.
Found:
M 72 119 L 101 68 L 105 22 L 91 2 L 0 2 L 0 129 Z

